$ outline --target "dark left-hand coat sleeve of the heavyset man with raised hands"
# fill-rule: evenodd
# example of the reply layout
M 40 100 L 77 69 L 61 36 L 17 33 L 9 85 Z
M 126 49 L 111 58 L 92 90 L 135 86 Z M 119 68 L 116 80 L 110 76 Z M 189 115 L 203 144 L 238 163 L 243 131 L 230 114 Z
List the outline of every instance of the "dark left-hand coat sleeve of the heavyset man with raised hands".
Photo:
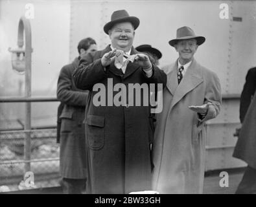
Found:
M 91 90 L 93 85 L 107 77 L 106 68 L 102 66 L 100 56 L 88 53 L 81 58 L 78 68 L 73 72 L 73 81 L 78 89 Z

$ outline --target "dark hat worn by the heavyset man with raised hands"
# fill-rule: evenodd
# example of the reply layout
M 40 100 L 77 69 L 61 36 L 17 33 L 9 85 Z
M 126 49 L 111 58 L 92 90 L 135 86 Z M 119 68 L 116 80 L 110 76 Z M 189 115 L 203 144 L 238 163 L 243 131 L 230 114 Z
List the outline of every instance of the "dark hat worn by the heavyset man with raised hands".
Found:
M 111 15 L 111 21 L 104 25 L 104 32 L 108 34 L 108 31 L 113 27 L 113 25 L 126 21 L 134 25 L 134 30 L 139 26 L 139 19 L 137 17 L 129 16 L 126 10 L 117 10 Z

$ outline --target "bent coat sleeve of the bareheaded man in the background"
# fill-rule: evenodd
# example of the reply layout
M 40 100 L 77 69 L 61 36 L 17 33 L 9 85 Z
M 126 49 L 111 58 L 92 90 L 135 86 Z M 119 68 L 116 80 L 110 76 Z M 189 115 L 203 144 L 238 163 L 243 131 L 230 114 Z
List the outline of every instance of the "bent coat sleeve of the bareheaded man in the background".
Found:
M 67 105 L 85 106 L 88 91 L 74 91 L 72 89 L 72 72 L 64 66 L 60 71 L 57 85 L 57 98 Z

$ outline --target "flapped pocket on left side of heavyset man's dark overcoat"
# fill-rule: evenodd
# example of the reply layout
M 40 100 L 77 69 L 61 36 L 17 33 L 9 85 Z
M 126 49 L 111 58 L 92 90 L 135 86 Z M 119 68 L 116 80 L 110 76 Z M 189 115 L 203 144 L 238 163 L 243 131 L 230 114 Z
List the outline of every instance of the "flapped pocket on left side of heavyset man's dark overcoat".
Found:
M 101 149 L 104 146 L 104 116 L 89 115 L 86 118 L 87 138 L 90 149 Z

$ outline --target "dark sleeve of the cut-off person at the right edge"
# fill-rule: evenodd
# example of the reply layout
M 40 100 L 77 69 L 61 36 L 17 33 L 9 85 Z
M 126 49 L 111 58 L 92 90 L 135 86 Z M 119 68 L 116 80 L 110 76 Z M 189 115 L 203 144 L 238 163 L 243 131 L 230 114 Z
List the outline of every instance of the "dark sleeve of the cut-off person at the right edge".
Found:
M 246 75 L 246 83 L 244 83 L 244 88 L 240 96 L 240 108 L 239 108 L 239 118 L 240 122 L 244 122 L 244 117 L 251 103 L 251 97 L 255 93 L 256 88 L 256 68 L 250 69 Z

